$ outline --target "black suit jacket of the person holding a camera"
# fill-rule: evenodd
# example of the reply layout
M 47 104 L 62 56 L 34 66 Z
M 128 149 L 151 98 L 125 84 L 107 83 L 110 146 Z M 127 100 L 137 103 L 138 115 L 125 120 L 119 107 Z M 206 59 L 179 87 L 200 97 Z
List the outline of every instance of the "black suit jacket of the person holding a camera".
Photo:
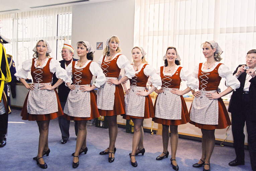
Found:
M 240 67 L 242 65 L 238 65 Z M 233 75 L 237 73 L 238 67 L 234 71 Z M 246 78 L 246 73 L 243 72 L 237 79 L 240 81 L 240 88 L 236 89 L 236 91 L 233 92 L 231 95 L 231 99 L 229 102 L 229 112 L 241 112 L 243 113 L 243 108 L 241 108 L 241 103 L 240 99 L 243 94 L 243 89 L 244 89 L 244 84 L 245 84 L 245 78 Z M 251 82 L 250 87 L 249 87 L 249 97 L 250 97 L 250 106 L 251 106 L 251 119 L 256 120 L 256 76 L 254 78 L 251 78 L 249 80 Z

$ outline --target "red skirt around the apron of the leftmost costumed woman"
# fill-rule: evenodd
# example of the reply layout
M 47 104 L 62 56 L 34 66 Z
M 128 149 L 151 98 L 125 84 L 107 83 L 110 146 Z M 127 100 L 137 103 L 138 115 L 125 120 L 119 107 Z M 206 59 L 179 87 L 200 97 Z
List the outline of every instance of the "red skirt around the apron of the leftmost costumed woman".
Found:
M 62 116 L 63 112 L 62 112 L 62 108 L 61 108 L 61 104 L 60 104 L 59 95 L 58 95 L 58 93 L 56 92 L 55 89 L 54 89 L 54 91 L 55 91 L 56 97 L 57 97 L 58 112 L 54 112 L 54 113 L 51 113 L 51 114 L 45 114 L 45 115 L 34 115 L 34 114 L 27 113 L 27 98 L 28 98 L 28 94 L 27 94 L 27 97 L 24 101 L 24 104 L 23 104 L 23 107 L 22 107 L 22 110 L 21 110 L 21 114 L 20 114 L 20 116 L 22 116 L 22 120 L 47 121 L 47 120 L 52 120 L 52 119 L 55 119 L 59 116 Z

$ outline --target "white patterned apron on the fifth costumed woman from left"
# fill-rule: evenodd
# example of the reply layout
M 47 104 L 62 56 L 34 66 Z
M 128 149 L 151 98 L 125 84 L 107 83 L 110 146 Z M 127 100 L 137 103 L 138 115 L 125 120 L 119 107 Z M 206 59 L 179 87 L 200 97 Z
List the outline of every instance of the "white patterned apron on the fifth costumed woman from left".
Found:
M 168 120 L 181 119 L 181 98 L 179 95 L 171 93 L 174 88 L 163 88 L 164 92 L 159 93 L 156 101 L 155 117 Z

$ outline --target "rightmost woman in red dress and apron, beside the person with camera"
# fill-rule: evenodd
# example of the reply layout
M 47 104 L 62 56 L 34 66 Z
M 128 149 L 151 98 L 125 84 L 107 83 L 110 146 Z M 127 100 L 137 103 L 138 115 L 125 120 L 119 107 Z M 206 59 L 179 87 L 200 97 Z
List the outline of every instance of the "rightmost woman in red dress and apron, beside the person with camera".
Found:
M 193 72 L 193 76 L 199 80 L 199 91 L 192 91 L 195 98 L 190 108 L 190 123 L 202 132 L 202 157 L 193 167 L 204 166 L 203 171 L 209 171 L 215 145 L 215 129 L 231 125 L 221 97 L 238 89 L 240 82 L 226 65 L 219 62 L 223 51 L 217 42 L 206 41 L 201 46 L 206 62 L 199 63 Z M 221 78 L 226 78 L 228 88 L 218 93 Z

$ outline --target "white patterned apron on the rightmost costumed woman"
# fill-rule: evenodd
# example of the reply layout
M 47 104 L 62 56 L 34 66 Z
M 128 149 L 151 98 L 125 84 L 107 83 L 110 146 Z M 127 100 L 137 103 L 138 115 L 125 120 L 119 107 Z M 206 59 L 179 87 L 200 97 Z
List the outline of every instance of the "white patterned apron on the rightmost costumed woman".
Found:
M 218 99 L 209 99 L 206 93 L 215 93 L 212 91 L 200 91 L 201 96 L 194 98 L 190 110 L 190 120 L 199 124 L 218 125 L 219 104 Z

